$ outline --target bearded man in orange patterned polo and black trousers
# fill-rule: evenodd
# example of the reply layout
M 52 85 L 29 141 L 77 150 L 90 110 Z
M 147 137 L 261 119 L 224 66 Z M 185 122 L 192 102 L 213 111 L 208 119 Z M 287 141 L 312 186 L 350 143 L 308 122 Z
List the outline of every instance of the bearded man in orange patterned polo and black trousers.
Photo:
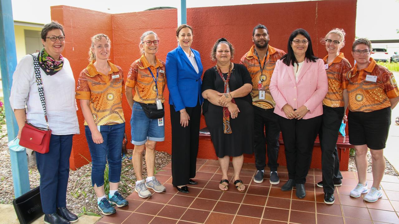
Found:
M 258 24 L 253 28 L 252 42 L 254 45 L 241 57 L 240 63 L 247 67 L 252 78 L 252 104 L 254 107 L 254 134 L 255 134 L 255 166 L 257 173 L 255 183 L 263 182 L 266 165 L 270 167 L 270 183 L 280 183 L 277 174 L 277 157 L 279 155 L 280 126 L 277 123 L 277 114 L 274 113 L 276 103 L 270 94 L 269 84 L 276 65 L 285 52 L 269 45 L 269 31 L 266 26 Z M 266 136 L 265 136 L 266 129 Z

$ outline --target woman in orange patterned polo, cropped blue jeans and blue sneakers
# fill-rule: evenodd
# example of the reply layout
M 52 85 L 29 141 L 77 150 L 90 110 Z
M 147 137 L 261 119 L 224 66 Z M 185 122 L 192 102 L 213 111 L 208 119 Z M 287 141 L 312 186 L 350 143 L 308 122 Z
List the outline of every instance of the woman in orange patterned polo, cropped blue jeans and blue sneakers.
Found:
M 108 61 L 111 41 L 105 34 L 91 38 L 90 64 L 79 75 L 76 98 L 85 117 L 85 133 L 91 155 L 91 182 L 98 208 L 105 215 L 116 212 L 111 204 L 128 204 L 118 192 L 122 167 L 122 141 L 125 121 L 121 96 L 122 69 Z M 105 165 L 109 164 L 109 199 L 104 191 Z M 110 204 L 111 203 L 111 204 Z

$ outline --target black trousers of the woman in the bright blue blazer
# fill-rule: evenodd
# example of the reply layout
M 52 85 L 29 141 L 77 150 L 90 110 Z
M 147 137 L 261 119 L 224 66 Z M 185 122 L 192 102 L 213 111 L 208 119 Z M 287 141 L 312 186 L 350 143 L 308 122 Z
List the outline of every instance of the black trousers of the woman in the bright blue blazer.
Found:
M 201 105 L 186 107 L 190 116 L 188 126 L 180 124 L 180 112 L 170 105 L 170 124 L 172 126 L 172 184 L 186 185 L 196 176 L 196 163 L 199 141 L 199 121 Z

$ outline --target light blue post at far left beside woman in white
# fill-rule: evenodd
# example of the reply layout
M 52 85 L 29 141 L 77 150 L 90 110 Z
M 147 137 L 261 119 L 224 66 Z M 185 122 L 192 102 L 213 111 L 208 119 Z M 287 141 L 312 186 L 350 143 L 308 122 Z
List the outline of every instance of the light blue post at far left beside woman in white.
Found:
M 18 134 L 18 124 L 10 106 L 10 91 L 12 74 L 17 65 L 15 48 L 14 20 L 12 18 L 11 0 L 1 0 L 0 4 L 0 65 L 4 95 L 4 108 L 6 109 L 6 123 L 8 140 L 13 140 Z M 14 195 L 30 191 L 28 161 L 26 151 L 10 150 L 12 180 L 14 182 Z

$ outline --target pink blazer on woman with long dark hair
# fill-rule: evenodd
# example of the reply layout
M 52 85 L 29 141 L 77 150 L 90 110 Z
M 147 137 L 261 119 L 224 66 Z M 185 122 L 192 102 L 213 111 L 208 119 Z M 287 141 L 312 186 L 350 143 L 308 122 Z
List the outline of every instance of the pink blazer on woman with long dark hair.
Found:
M 294 109 L 298 109 L 302 105 L 309 109 L 303 119 L 322 115 L 322 101 L 328 91 L 323 60 L 308 62 L 305 59 L 297 76 L 298 81 L 295 81 L 292 65 L 286 66 L 282 60 L 277 61 L 269 86 L 270 93 L 276 102 L 274 112 L 287 118 L 282 107 L 289 104 Z

